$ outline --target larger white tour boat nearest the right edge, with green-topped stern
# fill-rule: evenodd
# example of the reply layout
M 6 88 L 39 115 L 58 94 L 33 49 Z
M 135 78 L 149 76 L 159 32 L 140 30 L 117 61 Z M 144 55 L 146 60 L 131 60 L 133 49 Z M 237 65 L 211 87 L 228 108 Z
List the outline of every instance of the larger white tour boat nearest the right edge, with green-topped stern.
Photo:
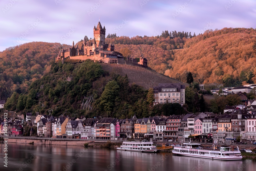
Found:
M 241 152 L 238 150 L 233 151 L 229 146 L 220 146 L 220 149 L 214 148 L 204 148 L 199 143 L 183 143 L 181 147 L 174 147 L 172 150 L 173 154 L 189 156 L 189 157 L 199 157 L 199 158 L 209 158 L 217 160 L 241 160 Z

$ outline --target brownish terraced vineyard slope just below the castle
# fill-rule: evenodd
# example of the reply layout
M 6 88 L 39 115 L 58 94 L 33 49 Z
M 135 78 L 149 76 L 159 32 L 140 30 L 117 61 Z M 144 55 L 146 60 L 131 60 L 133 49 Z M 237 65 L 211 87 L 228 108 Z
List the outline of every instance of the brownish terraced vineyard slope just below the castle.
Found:
M 130 83 L 135 83 L 139 86 L 144 87 L 145 89 L 153 88 L 158 86 L 159 83 L 182 83 L 183 82 L 159 74 L 153 70 L 131 66 L 131 65 L 119 65 L 119 64 L 101 64 L 102 68 L 110 73 L 118 73 L 121 76 L 125 77 L 127 75 Z M 186 84 L 186 83 L 185 83 Z M 188 84 L 186 84 L 188 85 Z

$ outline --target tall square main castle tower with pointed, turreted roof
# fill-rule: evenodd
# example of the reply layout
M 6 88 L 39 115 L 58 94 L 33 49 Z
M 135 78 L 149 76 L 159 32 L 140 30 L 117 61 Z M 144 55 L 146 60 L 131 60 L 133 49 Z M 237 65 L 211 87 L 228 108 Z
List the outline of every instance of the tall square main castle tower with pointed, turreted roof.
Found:
M 105 26 L 104 26 L 104 28 L 102 28 L 100 22 L 98 23 L 96 28 L 94 26 L 93 36 L 95 38 L 97 48 L 100 48 L 101 46 L 104 48 L 104 46 L 105 46 L 105 32 L 106 32 Z

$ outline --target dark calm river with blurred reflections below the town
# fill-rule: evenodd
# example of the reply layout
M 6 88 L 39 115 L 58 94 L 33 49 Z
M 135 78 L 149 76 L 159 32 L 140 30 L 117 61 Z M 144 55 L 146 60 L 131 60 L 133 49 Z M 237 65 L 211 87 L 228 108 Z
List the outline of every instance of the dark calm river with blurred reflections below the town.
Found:
M 255 171 L 255 159 L 218 161 L 172 153 L 140 153 L 99 147 L 8 143 L 8 167 L 0 144 L 0 170 L 21 171 Z

